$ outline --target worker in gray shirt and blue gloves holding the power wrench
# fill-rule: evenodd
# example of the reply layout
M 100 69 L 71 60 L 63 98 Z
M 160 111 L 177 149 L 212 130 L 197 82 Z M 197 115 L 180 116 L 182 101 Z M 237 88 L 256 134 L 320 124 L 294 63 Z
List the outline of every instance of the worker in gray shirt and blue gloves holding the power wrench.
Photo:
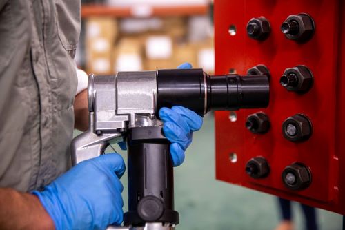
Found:
M 73 128 L 88 127 L 86 79 L 77 80 L 73 61 L 80 4 L 0 0 L 0 229 L 105 229 L 122 222 L 121 155 L 70 169 Z M 179 106 L 159 115 L 177 166 L 202 119 Z

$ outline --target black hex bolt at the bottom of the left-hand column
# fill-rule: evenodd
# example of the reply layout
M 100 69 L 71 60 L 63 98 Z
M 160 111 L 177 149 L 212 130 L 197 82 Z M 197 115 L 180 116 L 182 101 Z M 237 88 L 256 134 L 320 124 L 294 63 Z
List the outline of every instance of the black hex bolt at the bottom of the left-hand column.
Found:
M 252 178 L 266 178 L 270 173 L 270 166 L 264 157 L 254 157 L 246 164 L 246 173 Z

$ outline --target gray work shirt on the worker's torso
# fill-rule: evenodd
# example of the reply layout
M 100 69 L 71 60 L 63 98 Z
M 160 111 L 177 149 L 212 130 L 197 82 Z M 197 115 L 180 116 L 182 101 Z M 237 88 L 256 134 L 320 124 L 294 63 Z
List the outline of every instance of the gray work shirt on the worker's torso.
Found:
M 80 0 L 0 0 L 0 187 L 70 167 Z

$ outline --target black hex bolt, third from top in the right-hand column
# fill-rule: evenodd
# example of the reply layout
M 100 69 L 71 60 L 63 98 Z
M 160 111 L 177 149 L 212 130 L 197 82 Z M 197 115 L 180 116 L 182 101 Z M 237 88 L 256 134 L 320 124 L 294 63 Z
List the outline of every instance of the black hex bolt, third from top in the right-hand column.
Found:
M 288 117 L 283 122 L 282 132 L 284 137 L 290 142 L 302 142 L 311 137 L 313 127 L 308 117 L 302 114 L 296 114 Z

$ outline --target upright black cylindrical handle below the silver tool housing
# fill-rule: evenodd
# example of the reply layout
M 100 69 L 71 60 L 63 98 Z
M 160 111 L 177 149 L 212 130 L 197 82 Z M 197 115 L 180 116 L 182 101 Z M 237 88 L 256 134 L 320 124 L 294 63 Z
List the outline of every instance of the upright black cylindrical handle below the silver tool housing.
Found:
M 158 127 L 130 128 L 128 142 L 128 212 L 124 224 L 179 223 L 174 210 L 170 142 Z

